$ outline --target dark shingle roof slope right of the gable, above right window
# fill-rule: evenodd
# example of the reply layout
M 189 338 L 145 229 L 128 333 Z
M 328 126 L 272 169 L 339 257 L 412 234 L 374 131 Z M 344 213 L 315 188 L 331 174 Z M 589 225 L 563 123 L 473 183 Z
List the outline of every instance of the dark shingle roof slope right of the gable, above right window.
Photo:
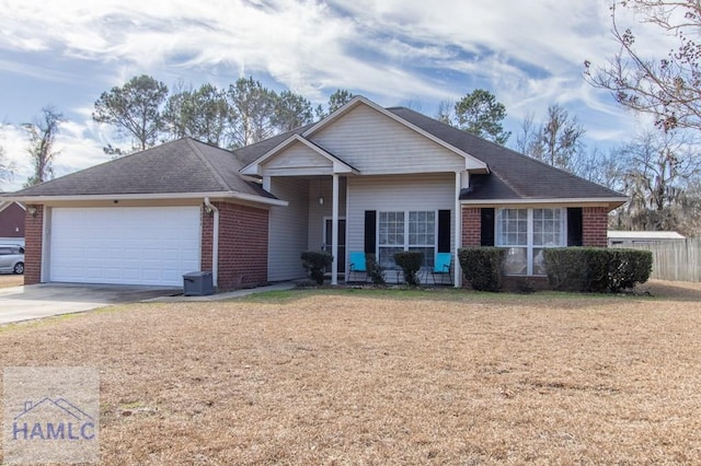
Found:
M 593 199 L 625 196 L 527 155 L 403 107 L 389 112 L 486 163 L 489 175 L 470 176 L 460 199 Z

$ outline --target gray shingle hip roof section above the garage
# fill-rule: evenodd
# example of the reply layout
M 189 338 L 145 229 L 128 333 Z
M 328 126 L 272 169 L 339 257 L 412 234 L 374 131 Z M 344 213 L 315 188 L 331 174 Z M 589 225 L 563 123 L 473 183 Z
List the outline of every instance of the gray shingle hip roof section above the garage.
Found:
M 223 149 L 179 139 L 92 166 L 12 196 L 229 193 L 274 198 L 239 173 L 240 160 Z

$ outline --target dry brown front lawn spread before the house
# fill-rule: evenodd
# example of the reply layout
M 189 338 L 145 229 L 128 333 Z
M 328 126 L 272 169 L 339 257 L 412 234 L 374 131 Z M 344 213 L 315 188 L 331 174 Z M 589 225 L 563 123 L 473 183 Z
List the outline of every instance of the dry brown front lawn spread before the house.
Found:
M 0 354 L 100 369 L 104 464 L 699 464 L 701 287 L 646 289 L 137 304 Z

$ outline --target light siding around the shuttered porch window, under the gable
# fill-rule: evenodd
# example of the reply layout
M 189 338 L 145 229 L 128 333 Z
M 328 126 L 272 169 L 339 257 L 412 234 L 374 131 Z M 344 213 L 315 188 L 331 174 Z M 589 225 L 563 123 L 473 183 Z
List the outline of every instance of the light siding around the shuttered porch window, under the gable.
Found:
M 364 251 L 365 211 L 450 210 L 450 249 L 455 249 L 455 174 L 360 176 L 348 179 L 348 247 Z

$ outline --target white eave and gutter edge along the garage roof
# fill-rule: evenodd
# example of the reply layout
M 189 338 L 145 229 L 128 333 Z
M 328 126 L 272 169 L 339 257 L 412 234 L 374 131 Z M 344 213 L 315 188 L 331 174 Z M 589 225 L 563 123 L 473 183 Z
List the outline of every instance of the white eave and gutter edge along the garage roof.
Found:
M 91 200 L 184 200 L 184 199 L 228 199 L 244 202 L 262 203 L 266 206 L 285 207 L 289 202 L 280 199 L 273 199 L 264 196 L 248 195 L 235 191 L 216 193 L 158 193 L 158 194 L 114 194 L 114 195 L 74 195 L 74 196 L 18 196 L 5 197 L 4 199 L 24 203 L 48 203 L 48 202 L 70 202 Z

